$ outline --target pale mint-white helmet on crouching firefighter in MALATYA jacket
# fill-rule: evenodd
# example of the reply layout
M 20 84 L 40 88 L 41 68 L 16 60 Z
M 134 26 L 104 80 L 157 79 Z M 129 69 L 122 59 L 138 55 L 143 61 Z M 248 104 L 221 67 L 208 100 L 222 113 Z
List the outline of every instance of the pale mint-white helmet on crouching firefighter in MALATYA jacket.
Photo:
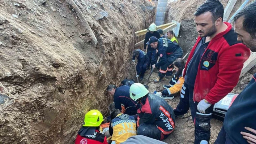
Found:
M 144 97 L 148 93 L 149 91 L 141 83 L 134 83 L 130 87 L 130 97 L 135 101 L 140 99 L 141 97 Z

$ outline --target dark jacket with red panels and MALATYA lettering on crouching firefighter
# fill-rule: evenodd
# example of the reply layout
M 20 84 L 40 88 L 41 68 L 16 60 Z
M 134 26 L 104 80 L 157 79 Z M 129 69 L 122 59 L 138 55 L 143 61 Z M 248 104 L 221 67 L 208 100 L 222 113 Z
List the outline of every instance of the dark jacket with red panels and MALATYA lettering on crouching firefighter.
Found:
M 175 128 L 175 115 L 171 106 L 161 97 L 148 94 L 141 99 L 138 109 L 137 127 L 142 123 L 153 123 L 163 135 L 169 135 Z

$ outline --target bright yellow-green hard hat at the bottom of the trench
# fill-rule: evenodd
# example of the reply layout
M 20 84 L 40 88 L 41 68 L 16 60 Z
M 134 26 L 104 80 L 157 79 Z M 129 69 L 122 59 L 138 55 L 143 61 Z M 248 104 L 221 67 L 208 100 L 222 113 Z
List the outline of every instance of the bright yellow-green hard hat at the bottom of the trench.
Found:
M 98 110 L 90 110 L 85 114 L 84 127 L 98 127 L 104 120 L 103 115 Z

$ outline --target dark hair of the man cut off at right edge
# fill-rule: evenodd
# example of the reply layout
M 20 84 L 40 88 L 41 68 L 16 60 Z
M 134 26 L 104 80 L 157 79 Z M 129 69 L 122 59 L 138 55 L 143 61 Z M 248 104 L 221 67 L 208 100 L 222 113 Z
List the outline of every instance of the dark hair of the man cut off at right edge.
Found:
M 247 31 L 253 39 L 256 38 L 256 1 L 245 6 L 234 17 L 235 22 L 238 18 L 244 17 L 243 29 Z

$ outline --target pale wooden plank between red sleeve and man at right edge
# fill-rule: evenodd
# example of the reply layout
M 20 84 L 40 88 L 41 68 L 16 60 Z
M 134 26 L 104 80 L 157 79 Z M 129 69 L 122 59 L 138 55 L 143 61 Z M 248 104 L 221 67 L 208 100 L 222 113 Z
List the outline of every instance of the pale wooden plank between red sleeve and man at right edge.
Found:
M 244 66 L 239 78 L 241 78 L 245 73 L 247 73 L 247 71 L 249 71 L 255 65 L 256 65 L 256 52 L 251 52 L 251 56 L 248 58 L 246 62 L 244 62 Z

